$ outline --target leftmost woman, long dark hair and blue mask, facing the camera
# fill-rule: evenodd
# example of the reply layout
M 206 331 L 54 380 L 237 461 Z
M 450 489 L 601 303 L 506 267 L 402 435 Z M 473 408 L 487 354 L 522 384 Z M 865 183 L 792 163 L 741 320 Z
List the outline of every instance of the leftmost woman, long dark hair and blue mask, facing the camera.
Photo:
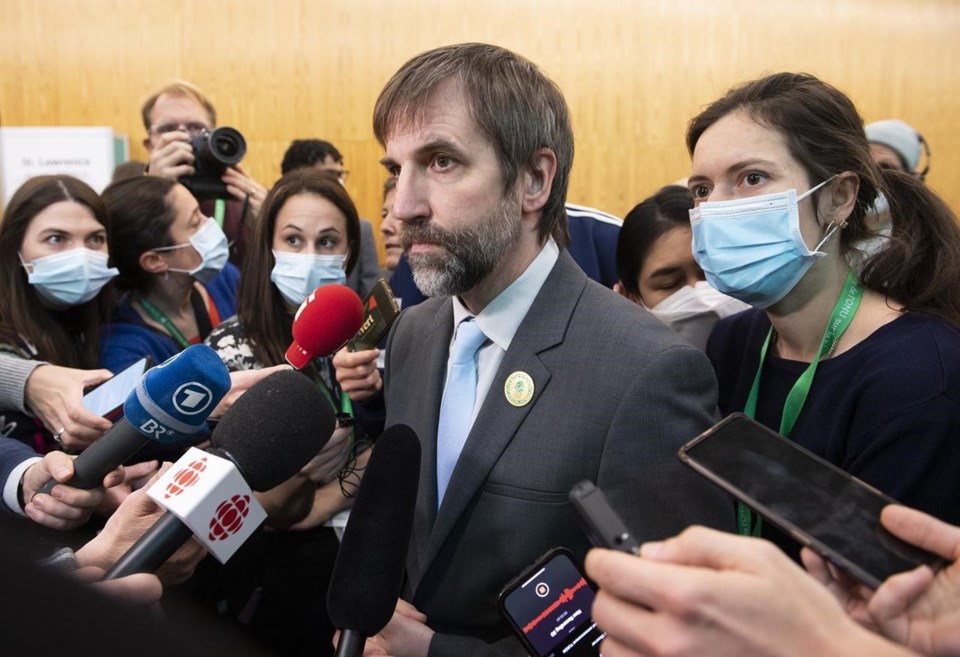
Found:
M 79 405 L 84 385 L 110 377 L 106 370 L 89 370 L 97 366 L 100 325 L 112 306 L 111 290 L 104 287 L 117 275 L 109 262 L 109 229 L 97 193 L 63 175 L 26 181 L 0 224 L 0 353 L 85 368 L 63 370 L 64 377 L 76 379 L 76 397 L 53 404 L 62 410 L 22 409 L 38 417 L 0 413 L 0 434 L 41 453 L 57 442 L 81 449 L 110 428 Z

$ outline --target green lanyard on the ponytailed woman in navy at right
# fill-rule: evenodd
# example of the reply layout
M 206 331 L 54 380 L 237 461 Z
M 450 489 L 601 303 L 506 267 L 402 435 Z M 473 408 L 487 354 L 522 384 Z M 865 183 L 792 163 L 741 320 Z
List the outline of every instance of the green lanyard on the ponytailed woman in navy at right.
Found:
M 817 373 L 817 365 L 824 358 L 829 358 L 840 338 L 853 321 L 853 316 L 860 306 L 860 299 L 863 297 L 863 286 L 857 280 L 856 275 L 851 270 L 847 274 L 847 279 L 843 283 L 843 290 L 840 297 L 830 313 L 830 319 L 827 322 L 827 328 L 823 332 L 823 340 L 820 342 L 820 352 L 813 362 L 804 370 L 797 382 L 793 384 L 787 400 L 783 404 L 783 415 L 780 418 L 780 435 L 787 437 L 793 431 L 793 425 L 797 423 L 803 405 L 807 401 L 807 395 L 810 394 L 810 387 L 813 385 L 813 377 Z M 767 333 L 767 339 L 760 350 L 760 364 L 757 366 L 757 374 L 753 378 L 753 386 L 750 388 L 750 395 L 747 397 L 747 404 L 743 409 L 744 415 L 750 418 L 756 418 L 757 398 L 760 396 L 760 373 L 763 371 L 763 363 L 767 359 L 767 350 L 770 347 L 770 340 L 773 336 L 773 327 Z M 737 504 L 737 533 L 741 536 L 759 536 L 762 528 L 760 517 L 756 516 L 743 503 Z

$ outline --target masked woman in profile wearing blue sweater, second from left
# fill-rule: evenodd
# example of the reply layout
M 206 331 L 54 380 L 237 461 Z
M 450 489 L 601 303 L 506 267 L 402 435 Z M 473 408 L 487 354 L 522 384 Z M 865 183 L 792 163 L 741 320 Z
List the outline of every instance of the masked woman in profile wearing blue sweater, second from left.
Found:
M 227 262 L 227 238 L 186 187 L 139 176 L 110 185 L 103 200 L 127 293 L 104 329 L 103 367 L 119 371 L 143 356 L 162 363 L 234 314 L 240 274 Z

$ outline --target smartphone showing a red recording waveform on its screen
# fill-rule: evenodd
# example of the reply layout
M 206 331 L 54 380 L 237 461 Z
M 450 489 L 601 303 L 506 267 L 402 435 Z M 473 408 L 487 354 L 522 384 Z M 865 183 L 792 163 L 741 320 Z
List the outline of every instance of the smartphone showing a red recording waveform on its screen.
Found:
M 597 657 L 606 636 L 593 622 L 596 595 L 566 548 L 554 548 L 507 584 L 497 600 L 534 657 Z

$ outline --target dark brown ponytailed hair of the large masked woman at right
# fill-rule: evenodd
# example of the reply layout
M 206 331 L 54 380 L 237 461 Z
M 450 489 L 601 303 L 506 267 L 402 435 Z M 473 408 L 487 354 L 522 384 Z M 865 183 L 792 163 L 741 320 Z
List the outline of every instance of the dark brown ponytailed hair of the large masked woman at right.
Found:
M 840 232 L 845 257 L 856 255 L 857 243 L 872 235 L 866 214 L 882 192 L 890 204 L 893 235 L 886 247 L 864 263 L 860 273 L 864 286 L 907 309 L 930 312 L 960 325 L 956 215 L 917 178 L 877 167 L 863 119 L 843 92 L 803 73 L 777 73 L 748 82 L 690 121 L 690 154 L 710 126 L 736 111 L 780 132 L 811 186 L 839 173 L 857 176 L 860 186 L 853 212 Z M 814 195 L 814 207 L 816 199 Z

